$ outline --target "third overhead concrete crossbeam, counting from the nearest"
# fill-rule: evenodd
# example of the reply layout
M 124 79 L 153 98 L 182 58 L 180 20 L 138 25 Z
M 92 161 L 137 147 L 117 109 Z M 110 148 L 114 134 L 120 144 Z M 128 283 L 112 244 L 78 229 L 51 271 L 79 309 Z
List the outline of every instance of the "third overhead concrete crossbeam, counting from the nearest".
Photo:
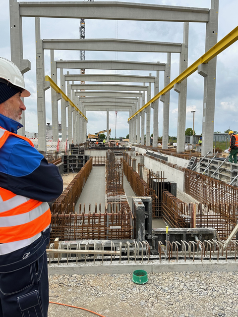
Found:
M 165 70 L 165 64 L 127 60 L 57 60 L 57 68 L 114 69 L 114 70 Z

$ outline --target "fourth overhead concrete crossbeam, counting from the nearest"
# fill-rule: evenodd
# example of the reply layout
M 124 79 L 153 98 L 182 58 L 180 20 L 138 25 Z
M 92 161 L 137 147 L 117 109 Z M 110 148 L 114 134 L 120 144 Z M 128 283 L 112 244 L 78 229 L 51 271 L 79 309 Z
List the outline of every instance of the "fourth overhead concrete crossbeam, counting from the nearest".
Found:
M 97 82 L 112 81 L 115 83 L 153 83 L 155 81 L 155 77 L 118 74 L 71 74 L 65 75 L 65 80 Z

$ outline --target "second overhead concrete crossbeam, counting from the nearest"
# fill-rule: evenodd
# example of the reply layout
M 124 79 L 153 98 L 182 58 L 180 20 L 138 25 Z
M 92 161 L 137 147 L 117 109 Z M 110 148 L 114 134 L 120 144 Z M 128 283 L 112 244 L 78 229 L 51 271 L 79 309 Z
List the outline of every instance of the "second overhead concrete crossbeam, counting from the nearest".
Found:
M 43 40 L 44 50 L 181 53 L 181 43 L 121 39 Z

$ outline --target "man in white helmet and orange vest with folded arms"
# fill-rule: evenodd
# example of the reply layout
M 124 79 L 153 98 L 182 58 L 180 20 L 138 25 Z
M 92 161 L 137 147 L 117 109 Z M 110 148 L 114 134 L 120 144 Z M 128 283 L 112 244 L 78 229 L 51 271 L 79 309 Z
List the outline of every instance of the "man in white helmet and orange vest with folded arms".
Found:
M 47 202 L 63 189 L 59 169 L 17 135 L 29 97 L 23 76 L 0 57 L 0 317 L 47 317 Z

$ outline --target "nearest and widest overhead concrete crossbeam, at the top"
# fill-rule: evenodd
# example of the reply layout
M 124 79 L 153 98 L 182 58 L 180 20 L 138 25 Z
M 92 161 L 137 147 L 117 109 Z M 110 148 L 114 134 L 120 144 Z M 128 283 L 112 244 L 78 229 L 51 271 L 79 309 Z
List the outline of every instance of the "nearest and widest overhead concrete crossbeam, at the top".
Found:
M 21 16 L 208 22 L 209 9 L 130 2 L 19 2 Z

